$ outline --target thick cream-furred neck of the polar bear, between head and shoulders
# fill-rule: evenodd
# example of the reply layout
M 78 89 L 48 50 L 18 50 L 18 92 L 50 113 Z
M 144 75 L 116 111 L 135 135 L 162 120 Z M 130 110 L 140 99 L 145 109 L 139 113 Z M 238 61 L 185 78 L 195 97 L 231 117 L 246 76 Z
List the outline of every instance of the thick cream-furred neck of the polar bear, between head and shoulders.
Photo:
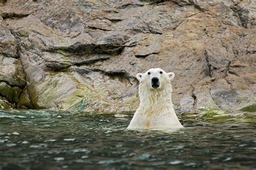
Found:
M 139 98 L 139 108 L 144 107 L 146 109 L 145 106 L 151 108 L 172 107 L 172 85 L 171 83 L 166 83 L 165 88 L 148 90 L 142 84 L 139 84 Z

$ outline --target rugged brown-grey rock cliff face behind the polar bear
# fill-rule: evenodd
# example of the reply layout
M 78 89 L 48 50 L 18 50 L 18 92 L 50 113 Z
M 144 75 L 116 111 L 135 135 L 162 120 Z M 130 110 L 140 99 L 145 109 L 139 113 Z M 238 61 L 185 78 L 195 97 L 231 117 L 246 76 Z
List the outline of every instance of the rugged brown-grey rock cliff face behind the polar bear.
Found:
M 0 4 L 2 107 L 133 111 L 155 67 L 176 74 L 181 111 L 255 107 L 254 1 Z

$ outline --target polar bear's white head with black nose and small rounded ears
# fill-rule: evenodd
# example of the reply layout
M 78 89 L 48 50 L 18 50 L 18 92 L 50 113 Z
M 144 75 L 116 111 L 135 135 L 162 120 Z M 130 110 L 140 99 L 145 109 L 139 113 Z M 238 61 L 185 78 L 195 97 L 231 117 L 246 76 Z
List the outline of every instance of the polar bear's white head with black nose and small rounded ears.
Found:
M 174 78 L 174 73 L 166 73 L 160 68 L 151 68 L 145 73 L 138 73 L 136 78 L 139 80 L 139 84 L 144 88 L 157 90 L 163 89 L 167 84 L 170 84 Z

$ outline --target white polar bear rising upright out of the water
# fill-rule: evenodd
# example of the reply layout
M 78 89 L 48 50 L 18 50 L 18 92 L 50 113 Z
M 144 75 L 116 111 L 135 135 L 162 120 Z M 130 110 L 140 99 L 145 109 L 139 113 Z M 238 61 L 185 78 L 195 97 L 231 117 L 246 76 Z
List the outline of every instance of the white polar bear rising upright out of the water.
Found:
M 139 108 L 127 129 L 184 128 L 175 114 L 172 104 L 174 73 L 151 68 L 136 75 L 139 80 Z

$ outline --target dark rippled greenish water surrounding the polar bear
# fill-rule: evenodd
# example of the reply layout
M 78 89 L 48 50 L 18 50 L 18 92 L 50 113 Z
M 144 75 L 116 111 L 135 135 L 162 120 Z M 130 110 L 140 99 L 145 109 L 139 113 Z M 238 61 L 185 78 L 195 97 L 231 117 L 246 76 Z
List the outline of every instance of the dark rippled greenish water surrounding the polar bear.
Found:
M 178 131 L 126 130 L 131 113 L 0 111 L 0 169 L 255 169 L 256 116 L 179 115 Z

